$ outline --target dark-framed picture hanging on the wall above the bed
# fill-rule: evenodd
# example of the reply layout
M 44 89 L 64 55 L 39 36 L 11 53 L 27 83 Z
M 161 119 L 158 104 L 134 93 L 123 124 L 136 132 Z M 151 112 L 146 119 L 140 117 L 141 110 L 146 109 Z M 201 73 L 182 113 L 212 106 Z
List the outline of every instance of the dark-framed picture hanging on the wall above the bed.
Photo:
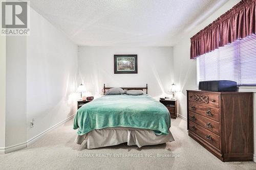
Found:
M 136 55 L 114 55 L 114 74 L 137 74 Z

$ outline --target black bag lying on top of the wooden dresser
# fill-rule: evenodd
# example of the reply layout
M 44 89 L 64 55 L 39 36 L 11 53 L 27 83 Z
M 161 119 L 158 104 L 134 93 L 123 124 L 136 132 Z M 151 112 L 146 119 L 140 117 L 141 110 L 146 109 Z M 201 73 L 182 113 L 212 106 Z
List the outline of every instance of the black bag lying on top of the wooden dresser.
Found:
M 237 82 L 230 80 L 199 82 L 199 90 L 207 91 L 237 91 Z

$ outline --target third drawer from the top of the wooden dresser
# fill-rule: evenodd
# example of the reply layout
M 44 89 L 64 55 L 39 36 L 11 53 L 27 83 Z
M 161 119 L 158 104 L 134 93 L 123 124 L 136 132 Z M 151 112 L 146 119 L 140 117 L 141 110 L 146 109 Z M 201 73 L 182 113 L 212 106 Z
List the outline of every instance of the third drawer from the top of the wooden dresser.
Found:
M 216 133 L 217 135 L 220 135 L 220 123 L 215 122 L 212 119 L 206 118 L 193 112 L 189 112 L 189 120 L 198 125 L 201 125 L 211 132 Z

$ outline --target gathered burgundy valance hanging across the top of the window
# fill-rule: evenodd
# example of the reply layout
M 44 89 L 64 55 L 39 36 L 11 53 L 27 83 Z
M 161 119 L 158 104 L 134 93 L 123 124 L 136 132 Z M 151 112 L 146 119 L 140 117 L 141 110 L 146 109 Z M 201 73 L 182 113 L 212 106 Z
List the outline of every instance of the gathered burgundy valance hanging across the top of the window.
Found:
M 190 38 L 190 59 L 256 33 L 256 0 L 242 0 Z

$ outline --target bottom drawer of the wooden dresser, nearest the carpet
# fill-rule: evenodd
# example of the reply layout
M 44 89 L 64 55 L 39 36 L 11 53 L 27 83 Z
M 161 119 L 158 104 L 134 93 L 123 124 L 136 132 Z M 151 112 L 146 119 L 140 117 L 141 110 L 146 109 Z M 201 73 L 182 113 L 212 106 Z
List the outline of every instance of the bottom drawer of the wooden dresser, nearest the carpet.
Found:
M 207 129 L 191 122 L 189 120 L 189 131 L 194 132 L 202 138 L 206 143 L 220 150 L 220 136 L 208 131 Z

